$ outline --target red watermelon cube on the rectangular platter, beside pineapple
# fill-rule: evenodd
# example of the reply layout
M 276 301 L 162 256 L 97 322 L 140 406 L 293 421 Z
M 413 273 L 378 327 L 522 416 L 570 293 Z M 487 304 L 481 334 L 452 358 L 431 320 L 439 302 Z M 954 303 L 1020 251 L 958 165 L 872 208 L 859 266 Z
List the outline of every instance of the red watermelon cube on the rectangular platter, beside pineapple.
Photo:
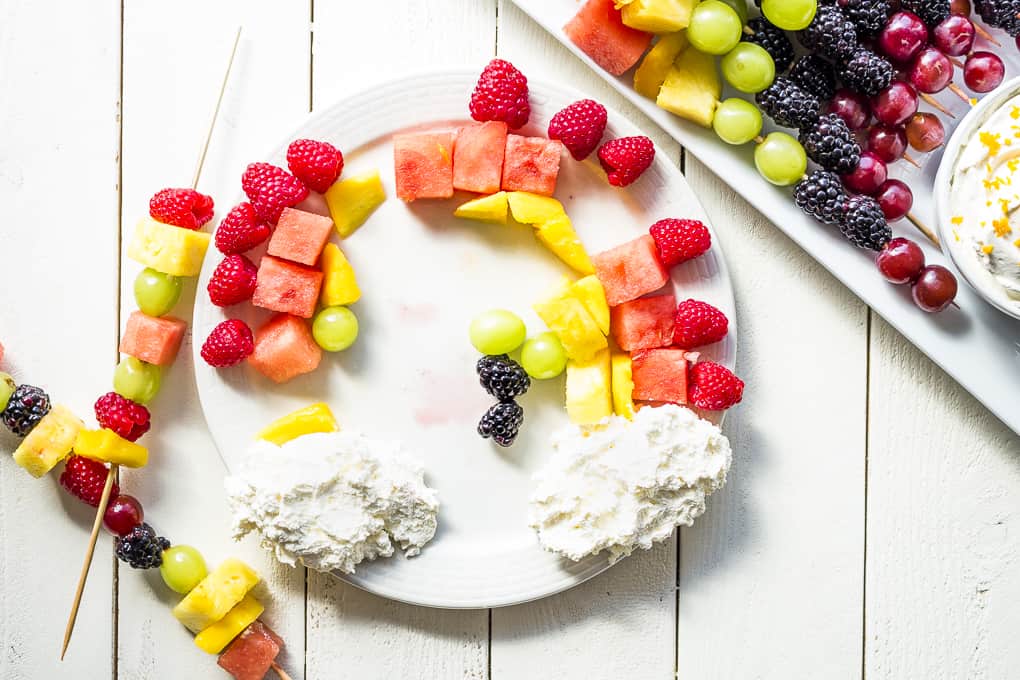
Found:
M 652 34 L 623 23 L 615 0 L 588 0 L 563 32 L 581 52 L 613 75 L 638 63 L 652 43 Z

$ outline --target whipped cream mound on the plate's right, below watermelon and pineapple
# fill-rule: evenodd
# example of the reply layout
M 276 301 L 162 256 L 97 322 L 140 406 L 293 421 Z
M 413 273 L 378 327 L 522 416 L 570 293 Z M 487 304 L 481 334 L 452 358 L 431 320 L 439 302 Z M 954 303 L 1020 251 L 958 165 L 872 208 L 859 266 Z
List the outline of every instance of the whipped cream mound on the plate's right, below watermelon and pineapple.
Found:
M 616 562 L 691 525 L 732 461 L 718 427 L 671 405 L 641 409 L 632 421 L 571 425 L 552 444 L 528 523 L 547 551 L 574 561 L 608 551 Z

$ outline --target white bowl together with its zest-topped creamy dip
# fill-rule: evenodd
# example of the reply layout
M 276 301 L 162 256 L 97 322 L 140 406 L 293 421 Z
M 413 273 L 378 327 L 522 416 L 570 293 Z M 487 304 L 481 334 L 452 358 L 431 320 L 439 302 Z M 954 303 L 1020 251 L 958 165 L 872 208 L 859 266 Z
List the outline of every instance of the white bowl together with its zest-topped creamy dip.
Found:
M 1020 79 L 987 95 L 961 122 L 934 196 L 953 264 L 985 300 L 1020 318 Z

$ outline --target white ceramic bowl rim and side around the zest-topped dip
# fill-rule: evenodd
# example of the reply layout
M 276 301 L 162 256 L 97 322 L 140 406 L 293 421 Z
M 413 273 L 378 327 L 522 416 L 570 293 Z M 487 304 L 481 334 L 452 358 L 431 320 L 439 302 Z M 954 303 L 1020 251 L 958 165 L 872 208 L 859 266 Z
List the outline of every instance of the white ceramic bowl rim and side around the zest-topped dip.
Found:
M 957 163 L 967 144 L 974 138 L 978 128 L 984 124 L 999 108 L 1013 97 L 1020 95 L 1020 77 L 1003 83 L 997 90 L 985 95 L 974 106 L 950 138 L 942 154 L 938 173 L 935 175 L 933 198 L 935 203 L 935 224 L 938 239 L 942 242 L 942 250 L 949 256 L 953 268 L 979 296 L 1008 316 L 1020 319 L 1020 302 L 1013 300 L 1003 287 L 996 282 L 991 274 L 981 266 L 977 258 L 968 252 L 965 244 L 957 242 L 950 224 L 950 192 L 953 187 L 953 176 Z M 976 141 L 976 140 L 975 140 Z

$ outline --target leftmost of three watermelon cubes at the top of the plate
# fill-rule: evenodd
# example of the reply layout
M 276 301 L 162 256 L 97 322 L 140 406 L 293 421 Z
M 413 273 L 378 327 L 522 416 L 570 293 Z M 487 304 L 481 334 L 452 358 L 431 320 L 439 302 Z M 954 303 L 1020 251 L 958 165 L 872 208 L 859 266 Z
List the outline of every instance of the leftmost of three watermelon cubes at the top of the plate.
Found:
M 411 133 L 393 138 L 397 196 L 416 199 L 453 196 L 454 133 Z

